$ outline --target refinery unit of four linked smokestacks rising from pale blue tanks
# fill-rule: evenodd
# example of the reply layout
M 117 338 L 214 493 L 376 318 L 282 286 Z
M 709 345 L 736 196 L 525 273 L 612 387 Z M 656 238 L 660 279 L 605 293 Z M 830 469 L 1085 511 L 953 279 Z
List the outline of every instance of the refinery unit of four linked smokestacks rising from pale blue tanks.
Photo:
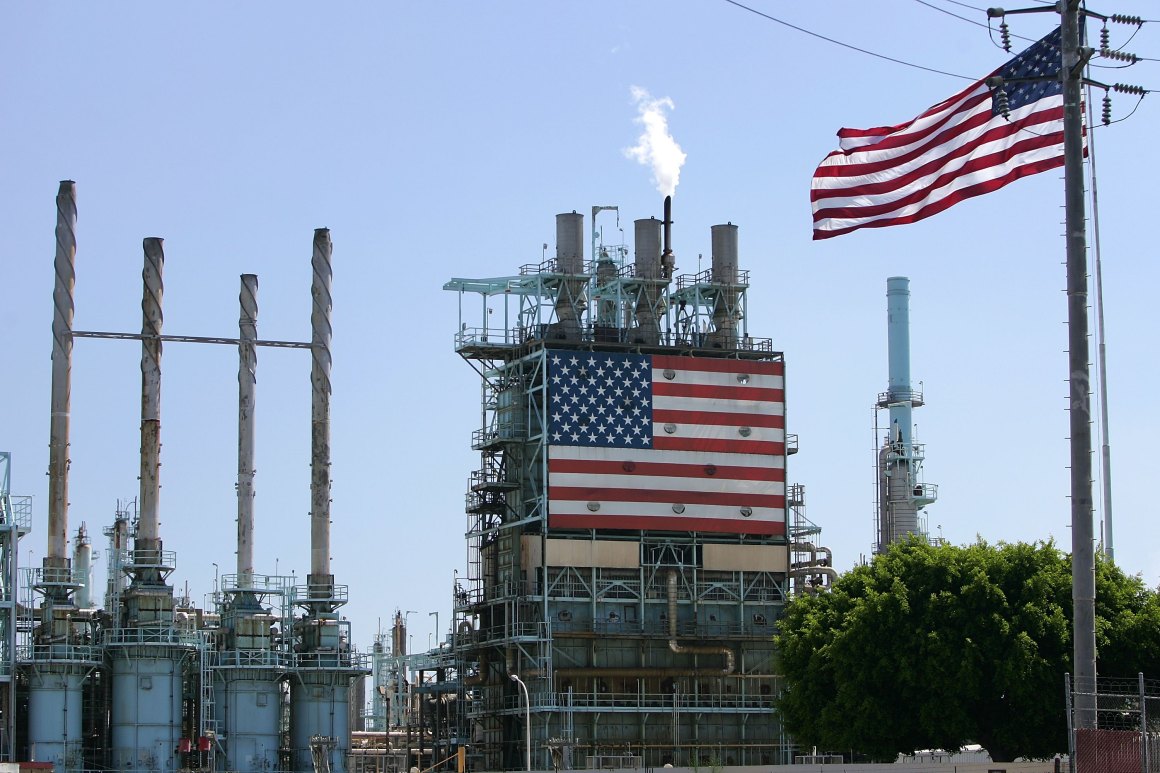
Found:
M 31 529 L 27 499 L 10 496 L 3 455 L 0 510 L 0 710 L 2 756 L 57 771 L 176 770 L 345 772 L 362 714 L 369 658 L 351 645 L 338 609 L 348 598 L 329 566 L 331 239 L 314 232 L 309 342 L 258 338 L 258 277 L 242 275 L 237 338 L 162 333 L 165 253 L 144 240 L 140 333 L 73 330 L 75 186 L 57 196 L 46 550 L 17 568 Z M 140 493 L 118 506 L 103 604 L 93 593 L 93 551 L 80 525 L 67 551 L 72 347 L 86 338 L 142 347 Z M 160 534 L 161 353 L 164 342 L 237 346 L 239 352 L 237 572 L 220 578 L 212 608 L 175 597 L 176 551 Z M 302 348 L 311 363 L 310 575 L 254 571 L 253 451 L 256 349 Z M 304 525 L 305 526 L 305 525 Z M 305 528 L 303 529 L 305 533 Z

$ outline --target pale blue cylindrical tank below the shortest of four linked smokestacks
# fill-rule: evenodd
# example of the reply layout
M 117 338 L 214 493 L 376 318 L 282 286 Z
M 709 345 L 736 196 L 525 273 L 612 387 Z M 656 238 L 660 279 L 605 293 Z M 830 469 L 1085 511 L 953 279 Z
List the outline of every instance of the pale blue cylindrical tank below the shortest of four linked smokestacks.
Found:
M 213 673 L 217 718 L 225 737 L 225 771 L 277 768 L 282 691 L 270 669 L 218 669 Z

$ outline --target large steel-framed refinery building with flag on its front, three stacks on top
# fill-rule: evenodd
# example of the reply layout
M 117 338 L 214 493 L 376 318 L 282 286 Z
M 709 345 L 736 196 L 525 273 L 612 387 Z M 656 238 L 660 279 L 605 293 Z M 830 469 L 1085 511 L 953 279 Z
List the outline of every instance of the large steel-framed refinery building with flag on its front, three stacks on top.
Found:
M 444 286 L 484 382 L 452 628 L 476 770 L 790 761 L 784 359 L 748 333 L 738 227 L 676 275 L 669 208 L 632 259 L 594 207 L 589 259 L 573 211 L 554 259 Z

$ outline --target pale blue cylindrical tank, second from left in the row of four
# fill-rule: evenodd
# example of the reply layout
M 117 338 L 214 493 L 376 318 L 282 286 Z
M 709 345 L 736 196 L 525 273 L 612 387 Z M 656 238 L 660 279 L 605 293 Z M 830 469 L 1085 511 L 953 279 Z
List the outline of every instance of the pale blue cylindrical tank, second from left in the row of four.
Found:
M 180 767 L 181 660 L 173 646 L 114 646 L 110 735 L 113 766 L 175 771 Z

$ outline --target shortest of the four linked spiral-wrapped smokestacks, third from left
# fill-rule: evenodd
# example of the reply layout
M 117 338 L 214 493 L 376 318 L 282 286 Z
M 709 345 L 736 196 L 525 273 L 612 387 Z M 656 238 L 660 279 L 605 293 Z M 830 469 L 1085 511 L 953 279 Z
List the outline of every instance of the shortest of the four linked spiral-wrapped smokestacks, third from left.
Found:
M 258 383 L 258 276 L 241 275 L 238 295 L 238 587 L 254 584 L 254 390 Z

